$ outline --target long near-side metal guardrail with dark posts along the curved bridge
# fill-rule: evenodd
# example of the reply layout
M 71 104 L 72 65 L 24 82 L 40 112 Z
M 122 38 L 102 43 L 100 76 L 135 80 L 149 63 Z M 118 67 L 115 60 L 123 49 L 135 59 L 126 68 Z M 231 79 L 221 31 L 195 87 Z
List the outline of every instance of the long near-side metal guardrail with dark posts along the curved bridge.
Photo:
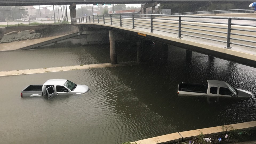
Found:
M 143 28 L 144 30 L 150 30 L 151 33 L 161 31 L 177 34 L 177 38 L 188 36 L 226 43 L 225 48 L 231 48 L 230 44 L 256 48 L 256 18 L 158 14 L 101 14 L 75 18 L 71 22 L 103 23 L 106 25 L 130 27 L 132 29 Z

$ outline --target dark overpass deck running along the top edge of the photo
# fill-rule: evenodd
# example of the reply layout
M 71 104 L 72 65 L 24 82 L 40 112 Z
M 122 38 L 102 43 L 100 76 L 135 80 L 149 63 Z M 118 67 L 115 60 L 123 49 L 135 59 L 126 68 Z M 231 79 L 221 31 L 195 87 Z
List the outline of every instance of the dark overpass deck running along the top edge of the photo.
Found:
M 208 0 L 1 0 L 0 6 L 27 6 L 27 5 L 70 5 L 76 4 L 132 4 L 132 3 L 208 3 Z M 211 0 L 211 3 L 241 3 L 241 0 Z M 245 0 L 242 2 L 254 2 Z

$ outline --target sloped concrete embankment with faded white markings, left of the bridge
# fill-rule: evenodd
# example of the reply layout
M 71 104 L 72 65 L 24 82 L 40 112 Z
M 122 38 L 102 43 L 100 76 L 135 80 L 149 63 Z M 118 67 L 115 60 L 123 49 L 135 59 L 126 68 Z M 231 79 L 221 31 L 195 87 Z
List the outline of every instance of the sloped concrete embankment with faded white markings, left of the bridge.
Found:
M 109 43 L 107 30 L 74 25 L 6 27 L 1 30 L 7 35 L 1 39 L 0 51 Z

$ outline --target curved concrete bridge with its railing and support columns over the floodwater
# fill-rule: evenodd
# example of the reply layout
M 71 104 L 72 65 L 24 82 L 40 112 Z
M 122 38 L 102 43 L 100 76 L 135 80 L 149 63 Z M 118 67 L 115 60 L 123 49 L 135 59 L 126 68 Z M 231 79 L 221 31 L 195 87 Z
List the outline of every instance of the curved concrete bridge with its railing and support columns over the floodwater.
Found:
M 256 18 L 105 14 L 73 19 L 73 23 L 88 30 L 109 30 L 112 64 L 117 63 L 116 42 L 135 36 L 138 61 L 143 59 L 141 40 L 150 39 L 161 43 L 156 51 L 162 51 L 162 60 L 166 59 L 167 45 L 171 45 L 186 49 L 187 59 L 195 51 L 256 67 Z

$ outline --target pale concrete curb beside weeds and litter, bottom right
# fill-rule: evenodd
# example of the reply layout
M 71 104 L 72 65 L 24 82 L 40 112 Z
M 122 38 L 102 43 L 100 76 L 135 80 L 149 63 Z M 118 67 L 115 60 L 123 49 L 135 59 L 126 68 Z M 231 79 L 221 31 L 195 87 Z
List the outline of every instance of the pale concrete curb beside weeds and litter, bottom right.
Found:
M 239 129 L 239 130 L 256 129 L 256 121 L 236 123 L 236 124 L 232 124 L 232 125 L 208 127 L 208 128 L 203 128 L 203 129 L 197 129 L 197 130 L 182 131 L 182 132 L 178 132 L 178 133 L 172 133 L 172 134 L 161 135 L 158 137 L 142 139 L 142 140 L 134 141 L 131 143 L 138 143 L 138 144 L 175 143 L 175 142 L 182 142 L 182 141 L 189 140 L 193 137 L 200 135 L 201 132 L 204 135 L 221 134 L 223 132 L 231 131 L 234 129 Z

